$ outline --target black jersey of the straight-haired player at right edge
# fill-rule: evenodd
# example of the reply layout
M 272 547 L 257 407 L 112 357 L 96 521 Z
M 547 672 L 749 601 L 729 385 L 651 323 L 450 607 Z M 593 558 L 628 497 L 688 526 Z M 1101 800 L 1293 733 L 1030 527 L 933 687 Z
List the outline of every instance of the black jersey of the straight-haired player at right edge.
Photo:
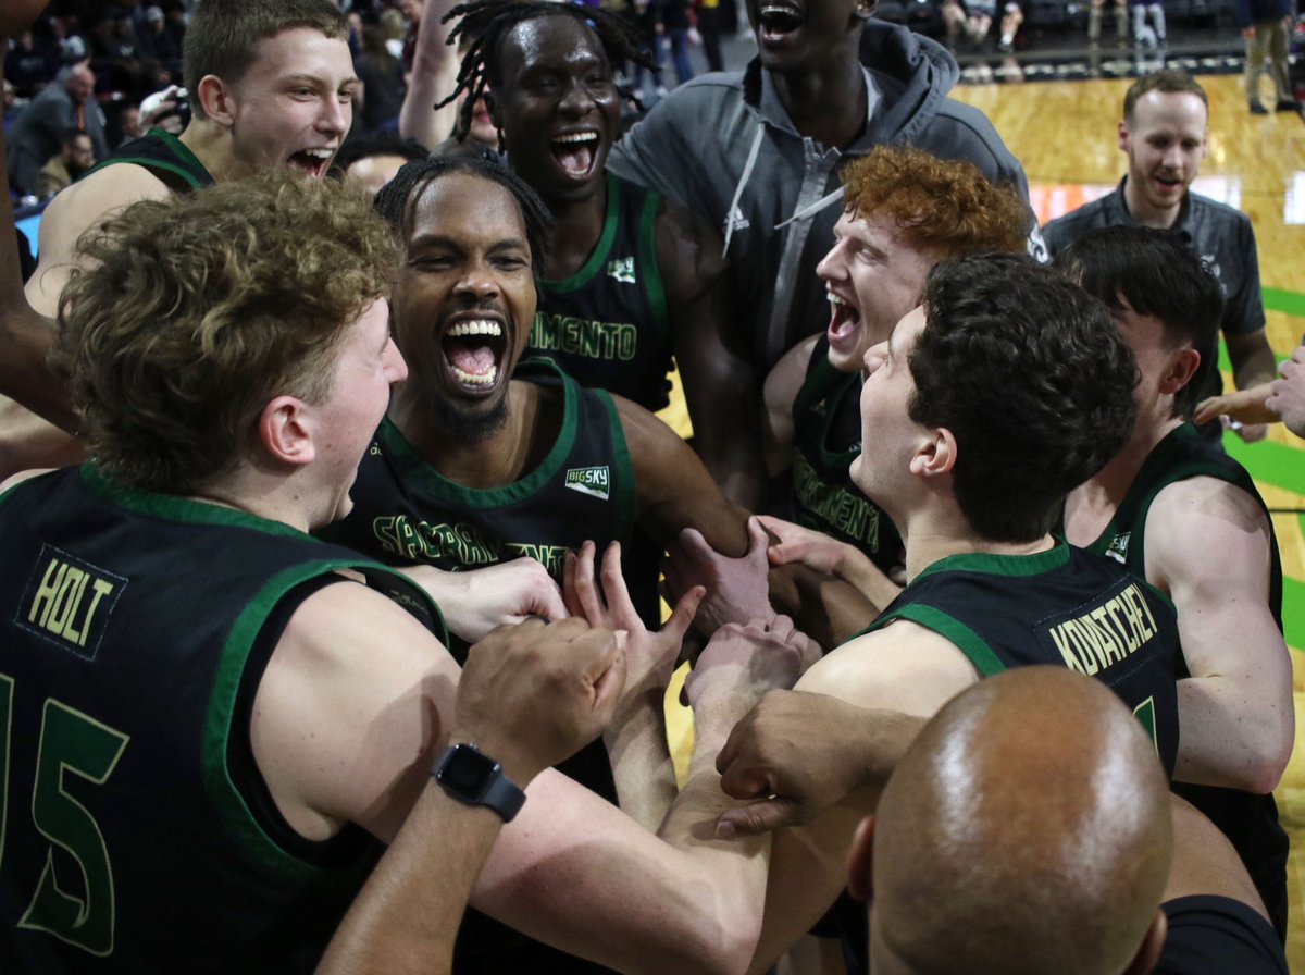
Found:
M 1246 469 L 1228 457 L 1219 445 L 1205 440 L 1190 423 L 1164 437 L 1143 461 L 1114 517 L 1088 551 L 1124 563 L 1138 578 L 1146 578 L 1146 519 L 1151 503 L 1165 487 L 1189 478 L 1215 478 L 1250 495 L 1268 523 L 1270 590 L 1268 608 L 1278 629 L 1283 628 L 1283 566 L 1278 555 L 1274 519 L 1255 489 Z M 1181 662 L 1180 662 L 1181 663 Z M 1186 677 L 1181 663 L 1180 676 Z M 1232 841 L 1246 864 L 1259 895 L 1265 899 L 1274 927 L 1287 935 L 1287 854 L 1291 846 L 1278 824 L 1278 804 L 1272 795 L 1254 795 L 1237 788 L 1194 786 L 1176 782 L 1173 791 L 1201 809 Z

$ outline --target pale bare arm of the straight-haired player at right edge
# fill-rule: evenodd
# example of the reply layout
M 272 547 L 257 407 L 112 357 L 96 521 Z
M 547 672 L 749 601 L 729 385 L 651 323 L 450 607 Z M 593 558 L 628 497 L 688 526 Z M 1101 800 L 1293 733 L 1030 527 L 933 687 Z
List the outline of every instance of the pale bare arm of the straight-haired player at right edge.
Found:
M 1291 658 L 1268 607 L 1267 519 L 1240 488 L 1191 478 L 1156 496 L 1146 539 L 1147 580 L 1173 599 L 1191 673 L 1178 681 L 1174 778 L 1268 792 L 1296 719 Z

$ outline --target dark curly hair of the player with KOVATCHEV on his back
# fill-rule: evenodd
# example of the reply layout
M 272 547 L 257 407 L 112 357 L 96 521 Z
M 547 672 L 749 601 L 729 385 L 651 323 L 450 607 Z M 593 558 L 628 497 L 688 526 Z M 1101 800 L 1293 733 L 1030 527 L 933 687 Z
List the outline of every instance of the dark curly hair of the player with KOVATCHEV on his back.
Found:
M 1137 364 L 1105 305 L 1030 257 L 933 268 L 910 354 L 911 419 L 957 439 L 957 503 L 981 536 L 1034 542 L 1128 442 Z

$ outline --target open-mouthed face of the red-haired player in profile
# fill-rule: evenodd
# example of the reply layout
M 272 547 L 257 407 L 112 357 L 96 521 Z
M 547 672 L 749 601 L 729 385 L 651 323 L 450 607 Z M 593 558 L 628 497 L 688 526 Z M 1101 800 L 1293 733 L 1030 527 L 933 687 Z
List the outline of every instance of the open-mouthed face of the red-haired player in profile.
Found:
M 893 218 L 844 213 L 834 247 L 816 266 L 829 294 L 829 360 L 839 372 L 861 368 L 867 350 L 920 303 L 924 278 L 938 256 L 917 249 Z

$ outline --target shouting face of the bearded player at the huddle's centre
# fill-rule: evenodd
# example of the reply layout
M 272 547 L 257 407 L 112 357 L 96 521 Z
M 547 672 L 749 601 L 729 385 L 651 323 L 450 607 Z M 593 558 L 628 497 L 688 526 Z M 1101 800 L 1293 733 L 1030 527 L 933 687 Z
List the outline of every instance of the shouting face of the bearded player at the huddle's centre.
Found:
M 526 224 L 512 193 L 468 172 L 418 192 L 394 285 L 395 338 L 411 371 L 395 402 L 483 439 L 506 418 L 535 318 Z

